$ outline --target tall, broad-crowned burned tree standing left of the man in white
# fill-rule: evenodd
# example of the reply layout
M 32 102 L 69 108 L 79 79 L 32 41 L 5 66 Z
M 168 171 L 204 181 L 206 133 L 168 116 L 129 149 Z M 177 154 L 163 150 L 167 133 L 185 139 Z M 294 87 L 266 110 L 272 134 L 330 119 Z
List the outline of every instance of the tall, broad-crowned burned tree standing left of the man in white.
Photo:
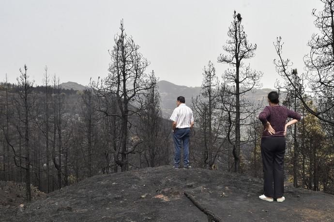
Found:
M 109 51 L 111 62 L 109 74 L 105 79 L 99 79 L 92 83 L 94 91 L 100 97 L 99 100 L 111 100 L 115 98 L 119 113 L 112 112 L 110 107 L 101 107 L 100 111 L 106 116 L 119 118 L 121 122 L 121 134 L 115 152 L 115 163 L 121 167 L 121 171 L 128 170 L 128 155 L 133 153 L 135 146 L 129 146 L 130 116 L 141 110 L 138 105 L 139 97 L 147 86 L 147 75 L 144 73 L 149 65 L 147 59 L 139 52 L 139 45 L 135 44 L 131 36 L 128 36 L 121 22 L 121 33 L 114 38 L 115 45 Z M 116 111 L 116 110 L 114 110 Z

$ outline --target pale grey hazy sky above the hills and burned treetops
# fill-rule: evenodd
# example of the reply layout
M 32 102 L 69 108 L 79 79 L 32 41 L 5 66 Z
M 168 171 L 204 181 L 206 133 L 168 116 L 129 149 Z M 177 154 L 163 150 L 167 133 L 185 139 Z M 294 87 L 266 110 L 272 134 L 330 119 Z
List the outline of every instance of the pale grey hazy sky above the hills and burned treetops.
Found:
M 91 77 L 105 77 L 107 50 L 124 19 L 126 33 L 151 62 L 148 72 L 200 86 L 209 60 L 218 76 L 226 69 L 217 57 L 236 10 L 249 41 L 258 44 L 248 62 L 263 72 L 263 88 L 273 88 L 273 42 L 282 36 L 284 56 L 302 73 L 306 44 L 318 31 L 313 8 L 323 8 L 320 0 L 0 0 L 0 80 L 7 74 L 15 82 L 24 64 L 37 85 L 46 65 L 61 82 L 87 85 Z

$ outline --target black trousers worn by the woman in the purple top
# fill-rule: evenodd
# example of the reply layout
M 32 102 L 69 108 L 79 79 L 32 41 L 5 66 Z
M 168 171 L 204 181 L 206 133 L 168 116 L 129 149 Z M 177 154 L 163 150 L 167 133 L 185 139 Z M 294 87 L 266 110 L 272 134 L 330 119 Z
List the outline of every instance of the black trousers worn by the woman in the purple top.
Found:
M 284 193 L 285 137 L 263 137 L 261 155 L 264 173 L 264 195 L 279 198 Z

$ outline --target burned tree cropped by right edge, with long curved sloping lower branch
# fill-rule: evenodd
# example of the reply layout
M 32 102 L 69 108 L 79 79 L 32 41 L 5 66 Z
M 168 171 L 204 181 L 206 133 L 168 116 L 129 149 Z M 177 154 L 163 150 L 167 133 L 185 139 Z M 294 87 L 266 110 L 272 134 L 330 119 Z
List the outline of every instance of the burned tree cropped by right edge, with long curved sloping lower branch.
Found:
M 334 124 L 334 0 L 321 0 L 323 11 L 315 16 L 315 26 L 320 33 L 314 33 L 308 42 L 310 53 L 304 56 L 306 74 L 289 72 L 292 62 L 283 59 L 281 37 L 274 44 L 278 59 L 274 60 L 276 71 L 288 81 L 297 92 L 298 99 L 305 109 L 320 120 Z M 294 80 L 298 79 L 297 82 Z M 306 84 L 308 83 L 308 84 Z M 308 89 L 306 88 L 308 87 Z M 303 95 L 307 95 L 304 97 Z M 307 101 L 317 99 L 316 109 L 308 106 Z

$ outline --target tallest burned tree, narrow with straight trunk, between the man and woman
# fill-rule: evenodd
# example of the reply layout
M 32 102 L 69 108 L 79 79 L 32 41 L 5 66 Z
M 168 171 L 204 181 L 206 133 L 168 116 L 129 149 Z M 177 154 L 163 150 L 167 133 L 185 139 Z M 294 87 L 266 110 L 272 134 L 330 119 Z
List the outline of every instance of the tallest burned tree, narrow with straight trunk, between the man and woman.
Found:
M 243 30 L 242 17 L 235 11 L 228 29 L 228 41 L 223 49 L 226 54 L 221 54 L 218 57 L 218 62 L 228 64 L 233 69 L 228 69 L 223 75 L 224 87 L 222 90 L 224 92 L 222 95 L 224 98 L 222 101 L 223 104 L 226 104 L 224 105 L 226 111 L 229 112 L 230 126 L 234 127 L 232 139 L 232 130 L 228 133 L 229 141 L 233 146 L 234 171 L 240 172 L 241 124 L 247 119 L 249 113 L 254 112 L 250 110 L 252 105 L 243 99 L 243 95 L 260 87 L 259 79 L 262 73 L 252 70 L 250 65 L 244 64 L 245 59 L 251 59 L 255 56 L 257 45 L 248 42 L 247 35 Z

